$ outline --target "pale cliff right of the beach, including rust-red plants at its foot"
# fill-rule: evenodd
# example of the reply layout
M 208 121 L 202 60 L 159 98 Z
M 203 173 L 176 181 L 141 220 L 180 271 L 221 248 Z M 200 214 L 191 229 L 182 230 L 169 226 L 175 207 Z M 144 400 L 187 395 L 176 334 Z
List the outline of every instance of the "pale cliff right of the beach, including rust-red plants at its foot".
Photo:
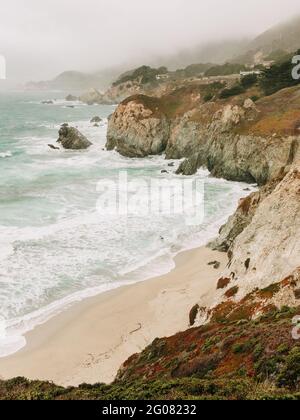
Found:
M 216 313 L 232 314 L 241 304 L 253 318 L 270 306 L 298 306 L 300 167 L 242 200 L 213 246 L 228 250 L 230 261 L 219 281 L 225 288 L 216 291 L 211 310 L 201 314 L 199 323 Z

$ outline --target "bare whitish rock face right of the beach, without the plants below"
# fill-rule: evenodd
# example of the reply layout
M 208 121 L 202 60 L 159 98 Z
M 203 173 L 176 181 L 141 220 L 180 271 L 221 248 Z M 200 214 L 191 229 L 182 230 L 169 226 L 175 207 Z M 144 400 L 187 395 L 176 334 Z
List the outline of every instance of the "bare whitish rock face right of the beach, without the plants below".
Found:
M 295 306 L 299 304 L 297 290 L 300 289 L 299 168 L 291 170 L 265 197 L 262 194 L 248 200 L 241 203 L 238 212 L 241 208 L 244 211 L 252 208 L 249 212 L 254 215 L 230 247 L 230 264 L 224 273 L 230 282 L 218 292 L 217 301 L 233 287 L 237 290 L 234 299 L 238 301 L 255 288 L 293 279 L 273 303 L 277 302 L 278 307 Z

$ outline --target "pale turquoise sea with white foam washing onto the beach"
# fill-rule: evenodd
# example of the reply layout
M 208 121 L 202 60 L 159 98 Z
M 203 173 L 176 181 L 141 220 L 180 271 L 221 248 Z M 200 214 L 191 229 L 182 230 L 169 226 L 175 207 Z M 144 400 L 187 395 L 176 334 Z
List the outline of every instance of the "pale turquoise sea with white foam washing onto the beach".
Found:
M 206 243 L 245 195 L 243 184 L 199 171 L 200 226 L 187 226 L 181 215 L 99 215 L 97 183 L 117 180 L 120 170 L 137 182 L 178 177 L 161 174 L 170 170 L 163 157 L 126 159 L 103 150 L 113 106 L 69 108 L 63 97 L 0 95 L 0 356 L 24 346 L 26 331 L 75 301 L 169 271 L 172 257 Z M 90 123 L 96 115 L 100 127 Z M 51 150 L 64 122 L 93 146 Z

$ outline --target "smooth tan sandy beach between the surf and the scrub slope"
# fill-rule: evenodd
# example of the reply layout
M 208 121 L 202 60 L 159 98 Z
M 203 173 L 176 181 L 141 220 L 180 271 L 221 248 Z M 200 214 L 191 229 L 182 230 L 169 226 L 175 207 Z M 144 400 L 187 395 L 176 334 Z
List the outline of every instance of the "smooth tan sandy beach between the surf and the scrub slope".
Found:
M 218 270 L 208 265 L 215 260 Z M 167 275 L 87 299 L 35 328 L 24 349 L 0 359 L 0 377 L 64 386 L 112 382 L 132 354 L 188 328 L 191 307 L 213 299 L 227 255 L 202 247 L 175 262 Z

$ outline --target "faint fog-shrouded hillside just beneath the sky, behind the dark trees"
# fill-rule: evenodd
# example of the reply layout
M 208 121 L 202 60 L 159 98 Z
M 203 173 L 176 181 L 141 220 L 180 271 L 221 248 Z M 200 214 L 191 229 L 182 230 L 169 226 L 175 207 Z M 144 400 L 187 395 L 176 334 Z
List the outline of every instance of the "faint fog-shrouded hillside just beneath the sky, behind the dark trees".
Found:
M 224 64 L 234 62 L 245 65 L 262 64 L 265 61 L 279 60 L 286 54 L 300 48 L 300 16 L 289 22 L 277 25 L 259 35 L 253 41 L 226 40 L 191 49 L 181 50 L 169 56 L 149 58 L 148 62 L 135 62 L 126 68 L 125 65 L 102 70 L 96 73 L 66 71 L 55 79 L 46 82 L 30 82 L 27 89 L 61 89 L 87 90 L 97 88 L 106 90 L 113 82 L 124 75 L 132 73 L 132 69 L 143 65 L 161 67 L 169 70 L 183 69 L 198 63 Z M 206 70 L 206 69 L 205 69 Z M 120 76 L 121 75 L 121 76 Z

